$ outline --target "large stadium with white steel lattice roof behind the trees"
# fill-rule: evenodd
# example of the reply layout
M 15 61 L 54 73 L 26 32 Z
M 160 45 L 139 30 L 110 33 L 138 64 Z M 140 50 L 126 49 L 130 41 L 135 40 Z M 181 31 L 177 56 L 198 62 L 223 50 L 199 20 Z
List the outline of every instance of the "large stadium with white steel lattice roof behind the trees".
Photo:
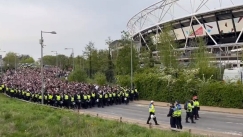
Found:
M 148 37 L 158 42 L 165 24 L 172 25 L 171 33 L 182 52 L 178 60 L 190 60 L 197 48 L 196 37 L 202 37 L 212 57 L 220 61 L 241 59 L 243 46 L 243 1 L 240 0 L 161 0 L 134 15 L 127 29 L 137 50 L 146 47 Z M 158 57 L 154 51 L 153 56 Z

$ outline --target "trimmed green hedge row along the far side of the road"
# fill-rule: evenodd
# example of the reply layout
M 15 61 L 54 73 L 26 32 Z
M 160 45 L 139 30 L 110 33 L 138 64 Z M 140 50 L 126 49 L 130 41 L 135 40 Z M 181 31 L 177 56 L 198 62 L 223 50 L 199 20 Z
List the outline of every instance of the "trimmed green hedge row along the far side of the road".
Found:
M 124 77 L 127 79 L 127 76 Z M 189 83 L 177 80 L 168 84 L 167 81 L 153 73 L 136 75 L 134 84 L 140 93 L 140 98 L 144 100 L 161 102 L 178 100 L 184 103 L 192 99 L 193 95 L 197 95 L 200 104 L 204 106 L 243 108 L 242 84 L 225 84 L 219 81 L 204 83 L 197 80 Z

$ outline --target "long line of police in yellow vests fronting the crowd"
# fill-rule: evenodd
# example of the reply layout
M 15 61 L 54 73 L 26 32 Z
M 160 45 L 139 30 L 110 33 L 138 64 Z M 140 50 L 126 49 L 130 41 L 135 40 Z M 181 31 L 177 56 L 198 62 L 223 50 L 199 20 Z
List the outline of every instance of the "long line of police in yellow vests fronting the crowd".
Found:
M 20 90 L 14 86 L 11 88 L 2 85 L 0 92 L 26 101 L 41 103 L 42 95 L 40 92 Z M 72 109 L 87 109 L 97 105 L 98 107 L 113 104 L 128 104 L 129 101 L 138 100 L 137 89 L 128 90 L 121 88 L 113 92 L 76 92 L 76 93 L 44 93 L 44 104 Z

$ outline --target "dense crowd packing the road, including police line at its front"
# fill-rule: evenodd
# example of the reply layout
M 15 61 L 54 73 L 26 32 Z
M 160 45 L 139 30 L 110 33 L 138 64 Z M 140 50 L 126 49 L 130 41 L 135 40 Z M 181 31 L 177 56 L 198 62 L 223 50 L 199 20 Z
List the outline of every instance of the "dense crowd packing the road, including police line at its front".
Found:
M 56 68 L 45 68 L 43 73 L 43 96 L 39 68 L 8 70 L 2 75 L 0 92 L 14 98 L 68 109 L 128 104 L 129 101 L 138 100 L 137 89 L 69 82 L 60 78 L 67 76 L 68 72 Z

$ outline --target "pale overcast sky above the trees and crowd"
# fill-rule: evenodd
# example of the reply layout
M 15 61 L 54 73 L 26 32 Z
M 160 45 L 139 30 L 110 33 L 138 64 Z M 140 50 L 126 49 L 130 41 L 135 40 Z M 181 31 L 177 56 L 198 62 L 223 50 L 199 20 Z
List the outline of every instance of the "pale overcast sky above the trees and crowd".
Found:
M 57 51 L 70 56 L 71 50 L 65 48 L 73 48 L 75 56 L 82 55 L 89 41 L 96 48 L 105 49 L 108 37 L 119 39 L 132 16 L 158 1 L 0 0 L 0 50 L 38 59 L 41 30 L 57 32 L 43 34 L 44 55 L 54 55 L 51 51 Z

